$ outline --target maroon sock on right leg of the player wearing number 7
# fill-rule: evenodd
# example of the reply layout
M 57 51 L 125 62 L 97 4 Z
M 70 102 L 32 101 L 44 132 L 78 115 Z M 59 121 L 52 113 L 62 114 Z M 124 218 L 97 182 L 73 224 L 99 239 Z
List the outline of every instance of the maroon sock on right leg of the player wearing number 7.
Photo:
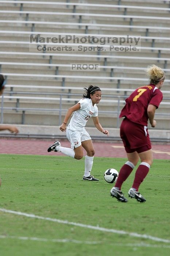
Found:
M 135 179 L 134 179 L 134 184 L 132 185 L 132 188 L 136 188 L 136 191 L 138 191 L 138 188 L 144 178 L 147 176 L 149 172 L 149 168 L 145 165 L 139 165 L 138 169 L 136 170 L 135 173 Z

